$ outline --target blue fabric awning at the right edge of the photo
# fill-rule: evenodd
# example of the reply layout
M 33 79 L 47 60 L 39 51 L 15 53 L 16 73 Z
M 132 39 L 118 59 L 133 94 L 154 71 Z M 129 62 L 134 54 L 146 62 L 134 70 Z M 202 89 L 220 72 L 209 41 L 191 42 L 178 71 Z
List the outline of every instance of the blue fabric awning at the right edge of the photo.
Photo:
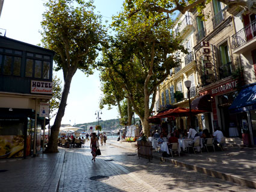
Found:
M 230 113 L 256 110 L 256 83 L 246 85 L 229 107 Z

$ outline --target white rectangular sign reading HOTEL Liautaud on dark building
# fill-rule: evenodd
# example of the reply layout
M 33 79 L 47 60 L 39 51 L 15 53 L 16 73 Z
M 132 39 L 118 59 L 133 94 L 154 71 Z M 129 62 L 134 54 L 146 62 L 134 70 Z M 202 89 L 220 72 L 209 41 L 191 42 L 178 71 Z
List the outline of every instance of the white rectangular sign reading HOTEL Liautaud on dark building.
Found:
M 52 94 L 52 82 L 32 80 L 31 93 Z

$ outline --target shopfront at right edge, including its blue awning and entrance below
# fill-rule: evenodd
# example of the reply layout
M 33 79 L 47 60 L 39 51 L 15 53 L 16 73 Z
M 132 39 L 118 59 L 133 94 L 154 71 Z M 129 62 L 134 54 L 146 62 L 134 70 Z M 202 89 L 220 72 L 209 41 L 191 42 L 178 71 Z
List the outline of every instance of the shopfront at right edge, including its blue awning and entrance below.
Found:
M 243 143 L 256 145 L 256 83 L 243 87 L 229 111 L 237 116 Z

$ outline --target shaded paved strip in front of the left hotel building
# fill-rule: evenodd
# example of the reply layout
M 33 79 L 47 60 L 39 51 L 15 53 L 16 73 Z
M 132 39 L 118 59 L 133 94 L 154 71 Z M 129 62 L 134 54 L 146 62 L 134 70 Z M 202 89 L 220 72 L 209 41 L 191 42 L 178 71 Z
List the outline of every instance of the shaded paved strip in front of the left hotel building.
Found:
M 57 191 L 65 154 L 64 149 L 58 150 L 36 158 L 1 159 L 1 191 Z

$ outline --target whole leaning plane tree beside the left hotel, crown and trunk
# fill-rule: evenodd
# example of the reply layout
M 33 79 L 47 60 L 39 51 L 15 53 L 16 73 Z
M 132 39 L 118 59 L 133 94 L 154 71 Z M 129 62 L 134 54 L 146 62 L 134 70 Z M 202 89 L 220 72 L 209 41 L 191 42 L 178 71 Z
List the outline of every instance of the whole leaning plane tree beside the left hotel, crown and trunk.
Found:
M 42 44 L 55 51 L 56 70 L 63 71 L 64 79 L 60 105 L 46 149 L 46 152 L 53 153 L 58 152 L 58 132 L 73 75 L 78 69 L 87 75 L 93 73 L 105 31 L 101 16 L 94 13 L 93 1 L 49 0 L 45 7 L 41 22 Z

